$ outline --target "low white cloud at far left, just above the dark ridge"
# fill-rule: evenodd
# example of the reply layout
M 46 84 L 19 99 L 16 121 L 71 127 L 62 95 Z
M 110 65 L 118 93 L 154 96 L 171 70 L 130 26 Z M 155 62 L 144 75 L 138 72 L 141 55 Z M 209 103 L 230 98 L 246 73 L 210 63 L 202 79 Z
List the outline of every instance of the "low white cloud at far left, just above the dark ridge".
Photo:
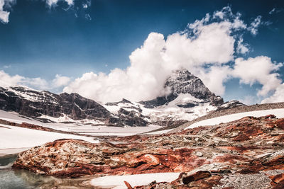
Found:
M 14 75 L 11 76 L 5 71 L 0 70 L 0 86 L 29 86 L 39 90 L 49 90 L 66 86 L 70 82 L 67 76 L 56 75 L 52 81 L 46 81 L 40 77 L 28 78 L 24 76 Z

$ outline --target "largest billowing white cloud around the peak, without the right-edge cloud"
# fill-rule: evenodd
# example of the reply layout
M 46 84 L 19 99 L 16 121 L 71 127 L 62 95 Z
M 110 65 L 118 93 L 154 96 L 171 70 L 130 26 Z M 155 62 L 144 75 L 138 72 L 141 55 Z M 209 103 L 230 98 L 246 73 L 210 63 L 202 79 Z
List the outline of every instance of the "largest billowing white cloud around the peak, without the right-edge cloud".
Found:
M 234 61 L 234 31 L 246 28 L 240 14 L 234 16 L 230 8 L 224 9 L 223 21 L 211 22 L 209 14 L 188 25 L 187 32 L 174 33 L 165 40 L 160 33 L 150 33 L 143 46 L 129 56 L 130 66 L 114 69 L 110 74 L 83 74 L 63 91 L 77 92 L 95 101 L 149 100 L 168 91 L 163 88 L 172 71 L 185 68 L 200 76 L 214 93 L 224 93 L 224 81 L 230 69 L 223 64 Z M 214 19 L 214 18 L 212 18 Z M 207 66 L 212 66 L 209 69 Z

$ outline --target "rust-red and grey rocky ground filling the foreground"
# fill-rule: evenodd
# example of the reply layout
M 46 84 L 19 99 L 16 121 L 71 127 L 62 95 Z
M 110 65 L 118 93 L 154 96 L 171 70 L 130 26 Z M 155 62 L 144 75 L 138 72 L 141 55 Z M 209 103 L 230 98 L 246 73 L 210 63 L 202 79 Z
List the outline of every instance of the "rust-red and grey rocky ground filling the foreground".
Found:
M 180 172 L 172 183 L 135 188 L 284 188 L 284 119 L 246 117 L 99 144 L 60 139 L 22 152 L 13 168 L 71 178 Z

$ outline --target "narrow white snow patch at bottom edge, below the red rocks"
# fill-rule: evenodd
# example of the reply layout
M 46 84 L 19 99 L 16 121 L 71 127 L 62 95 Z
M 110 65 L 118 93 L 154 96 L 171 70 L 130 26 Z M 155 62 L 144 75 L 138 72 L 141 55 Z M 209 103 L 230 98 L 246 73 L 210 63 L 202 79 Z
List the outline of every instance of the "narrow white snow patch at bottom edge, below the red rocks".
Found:
M 128 182 L 132 187 L 136 185 L 147 185 L 152 181 L 159 182 L 172 182 L 178 178 L 180 173 L 147 173 L 129 176 L 103 176 L 94 178 L 91 184 L 99 188 L 127 188 L 124 181 Z

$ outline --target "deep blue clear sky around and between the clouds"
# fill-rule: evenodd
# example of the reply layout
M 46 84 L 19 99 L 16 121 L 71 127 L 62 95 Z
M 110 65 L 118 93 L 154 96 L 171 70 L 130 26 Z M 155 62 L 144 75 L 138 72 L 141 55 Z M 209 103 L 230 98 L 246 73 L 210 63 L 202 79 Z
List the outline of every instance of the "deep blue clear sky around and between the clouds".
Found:
M 143 45 L 150 33 L 167 38 L 184 31 L 188 23 L 201 20 L 206 13 L 213 14 L 228 5 L 234 14 L 241 13 L 241 20 L 248 25 L 257 16 L 261 16 L 262 22 L 256 35 L 238 34 L 249 52 L 234 59 L 267 56 L 276 64 L 284 62 L 283 1 L 101 0 L 72 4 L 58 1 L 49 6 L 47 1 L 18 0 L 11 1 L 10 7 L 7 5 L 3 10 L 9 11 L 9 22 L 0 23 L 0 70 L 9 76 L 18 74 L 50 83 L 58 74 L 72 82 L 91 71 L 109 74 L 115 68 L 126 69 L 130 64 L 129 55 Z M 277 72 L 283 80 L 283 71 L 280 67 L 271 73 Z M 265 96 L 257 96 L 262 84 L 258 81 L 239 84 L 239 81 L 239 77 L 224 81 L 225 100 L 247 98 L 259 103 L 273 95 L 276 88 Z M 55 92 L 64 87 L 45 86 Z M 80 90 L 73 91 L 80 93 Z M 95 95 L 84 96 L 96 99 Z

